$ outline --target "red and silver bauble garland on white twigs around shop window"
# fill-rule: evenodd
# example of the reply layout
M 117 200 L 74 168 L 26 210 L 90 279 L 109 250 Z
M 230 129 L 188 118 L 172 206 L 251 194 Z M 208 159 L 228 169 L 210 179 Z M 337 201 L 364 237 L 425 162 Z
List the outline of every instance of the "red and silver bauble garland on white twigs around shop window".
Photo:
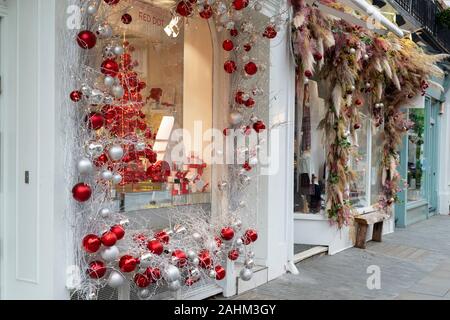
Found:
M 147 84 L 136 71 L 134 46 L 126 37 L 125 27 L 135 18 L 129 12 L 130 2 L 76 2 L 82 7 L 83 29 L 73 35 L 72 43 L 81 56 L 71 70 L 75 86 L 67 95 L 76 108 L 78 153 L 74 156 L 78 160 L 72 194 L 78 212 L 73 235 L 82 272 L 79 283 L 71 288 L 73 294 L 97 299 L 102 288 L 118 289 L 128 282 L 140 299 L 150 299 L 160 289 L 178 291 L 199 282 L 222 281 L 227 260 L 238 259 L 244 265 L 239 275 L 248 281 L 254 267 L 251 245 L 258 233 L 254 221 L 244 221 L 241 212 L 246 207 L 242 194 L 257 177 L 254 151 L 246 152 L 243 165 L 229 168 L 229 179 L 239 181 L 237 187 L 226 180 L 217 186 L 231 203 L 220 219 L 213 221 L 201 209 L 192 208 L 173 213 L 170 227 L 158 230 L 150 227 L 151 218 L 129 217 L 114 202 L 117 188 L 166 182 L 170 175 L 170 164 L 157 160 L 156 133 L 145 122 Z M 224 133 L 237 129 L 249 135 L 266 130 L 264 121 L 253 114 L 264 97 L 263 89 L 253 84 L 266 66 L 250 54 L 262 39 L 276 38 L 284 21 L 273 18 L 259 26 L 250 12 L 261 10 L 260 1 L 249 0 L 177 1 L 172 9 L 174 17 L 214 19 L 218 32 L 227 38 L 222 47 L 230 54 L 224 72 L 232 77 L 232 110 Z M 118 13 L 122 26 L 109 21 Z

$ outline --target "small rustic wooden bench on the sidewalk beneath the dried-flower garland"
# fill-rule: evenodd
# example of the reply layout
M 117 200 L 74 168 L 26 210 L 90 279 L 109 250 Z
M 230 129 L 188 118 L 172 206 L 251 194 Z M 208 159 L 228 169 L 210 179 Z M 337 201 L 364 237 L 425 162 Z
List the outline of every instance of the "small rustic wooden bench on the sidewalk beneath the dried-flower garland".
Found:
M 367 230 L 373 225 L 372 241 L 381 242 L 383 237 L 383 222 L 387 216 L 380 212 L 373 212 L 366 215 L 360 215 L 355 218 L 358 224 L 358 232 L 356 234 L 356 248 L 366 248 Z

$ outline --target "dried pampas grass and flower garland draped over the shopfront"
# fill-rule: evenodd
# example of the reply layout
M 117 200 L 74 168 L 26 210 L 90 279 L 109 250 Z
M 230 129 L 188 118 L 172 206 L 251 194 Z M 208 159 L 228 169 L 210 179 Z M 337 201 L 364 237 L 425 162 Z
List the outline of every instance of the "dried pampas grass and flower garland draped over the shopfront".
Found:
M 427 55 L 409 39 L 380 36 L 331 18 L 304 0 L 292 2 L 299 81 L 307 84 L 316 76 L 329 86 L 328 111 L 320 125 L 328 150 L 328 217 L 339 227 L 352 220 L 349 188 L 357 177 L 349 167 L 349 159 L 356 158 L 358 151 L 357 132 L 364 105 L 371 113 L 373 128 L 383 130 L 379 207 L 390 213 L 401 191 L 397 171 L 401 137 L 412 125 L 400 108 L 425 94 L 430 76 L 443 76 L 435 63 L 447 56 Z M 336 1 L 323 2 L 347 10 Z

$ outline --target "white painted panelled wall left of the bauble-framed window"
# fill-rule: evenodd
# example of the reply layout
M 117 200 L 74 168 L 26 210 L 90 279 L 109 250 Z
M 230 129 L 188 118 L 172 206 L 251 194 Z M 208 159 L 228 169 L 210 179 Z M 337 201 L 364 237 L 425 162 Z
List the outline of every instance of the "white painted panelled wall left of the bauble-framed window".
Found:
M 56 0 L 7 0 L 2 21 L 3 299 L 66 298 L 56 190 Z M 63 1 L 61 1 L 63 3 Z M 60 4 L 59 4 L 60 6 Z M 64 8 L 62 9 L 64 10 Z M 64 11 L 63 11 L 64 12 Z M 24 172 L 30 171 L 30 184 Z M 61 189 L 61 187 L 63 189 Z M 59 199 L 58 199 L 59 198 Z

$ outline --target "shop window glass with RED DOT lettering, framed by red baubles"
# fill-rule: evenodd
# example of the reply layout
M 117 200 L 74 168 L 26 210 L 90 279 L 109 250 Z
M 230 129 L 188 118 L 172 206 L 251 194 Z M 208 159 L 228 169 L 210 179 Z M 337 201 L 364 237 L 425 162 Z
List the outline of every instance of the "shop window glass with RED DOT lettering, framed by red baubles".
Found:
M 210 159 L 205 158 L 202 148 L 195 150 L 190 143 L 196 122 L 201 122 L 203 132 L 212 128 L 213 52 L 208 22 L 198 18 L 191 19 L 188 25 L 183 20 L 175 23 L 163 2 L 160 6 L 138 0 L 126 3 L 131 5 L 133 23 L 124 25 L 118 12 L 113 27 L 123 30 L 123 39 L 117 39 L 118 43 L 132 43 L 132 48 L 126 50 L 130 57 L 125 60 L 130 60 L 127 63 L 134 64 L 134 68 L 128 72 L 131 77 L 127 78 L 125 71 L 119 75 L 127 79 L 130 91 L 125 90 L 127 99 L 118 112 L 126 118 L 130 106 L 142 98 L 142 113 L 130 125 L 138 127 L 136 140 L 153 146 L 154 159 L 142 152 L 131 152 L 133 159 L 124 169 L 124 181 L 116 188 L 118 203 L 124 211 L 208 204 Z M 105 40 L 105 45 L 110 42 Z M 105 53 L 97 57 L 99 63 L 104 59 Z M 133 93 L 131 82 L 136 77 L 146 84 L 139 93 L 141 97 Z M 124 128 L 115 129 L 121 137 L 126 134 Z M 180 129 L 187 134 L 180 134 Z M 172 159 L 173 148 L 179 148 L 183 139 L 189 142 L 184 143 L 181 159 Z

